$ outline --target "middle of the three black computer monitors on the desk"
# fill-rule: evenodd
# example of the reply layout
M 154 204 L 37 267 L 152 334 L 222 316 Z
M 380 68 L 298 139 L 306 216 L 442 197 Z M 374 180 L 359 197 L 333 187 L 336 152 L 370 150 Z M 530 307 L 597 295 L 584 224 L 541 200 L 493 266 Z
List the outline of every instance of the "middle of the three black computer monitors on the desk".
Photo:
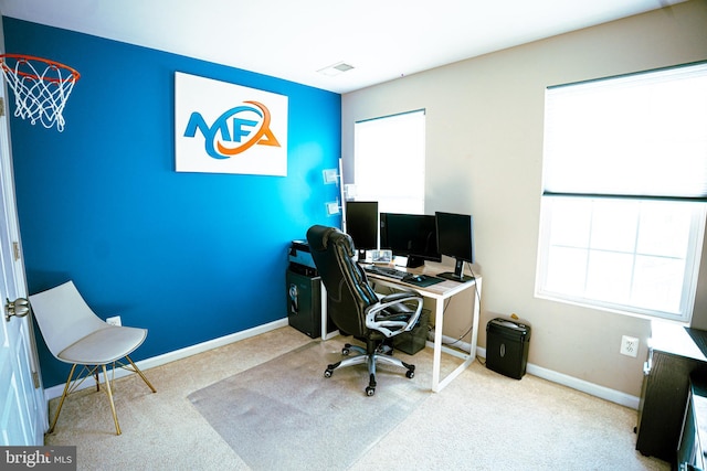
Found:
M 380 248 L 408 257 L 407 266 L 410 268 L 421 267 L 424 260 L 442 261 L 434 216 L 381 213 Z

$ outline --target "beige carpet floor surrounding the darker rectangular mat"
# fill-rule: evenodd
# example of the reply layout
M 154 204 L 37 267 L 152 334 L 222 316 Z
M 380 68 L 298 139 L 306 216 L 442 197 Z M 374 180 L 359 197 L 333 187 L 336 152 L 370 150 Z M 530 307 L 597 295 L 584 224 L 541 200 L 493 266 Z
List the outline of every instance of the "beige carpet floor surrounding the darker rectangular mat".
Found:
M 80 470 L 250 470 L 188 396 L 310 341 L 283 328 L 149 370 L 157 394 L 139 377 L 117 381 L 119 437 L 105 396 L 80 393 L 67 399 L 46 445 L 76 445 Z M 324 347 L 336 354 L 339 344 L 329 341 Z M 431 358 L 429 349 L 408 357 L 418 366 L 415 377 L 381 377 L 374 397 L 394 382 L 429 388 Z M 361 395 L 365 385 L 361 377 Z M 55 406 L 52 400 L 52 411 Z M 441 393 L 430 394 L 349 470 L 669 470 L 635 450 L 636 419 L 633 409 L 531 375 L 507 378 L 475 362 Z M 310 447 L 328 447 L 330 430 L 313 433 L 318 440 Z M 312 462 L 307 469 L 345 467 Z

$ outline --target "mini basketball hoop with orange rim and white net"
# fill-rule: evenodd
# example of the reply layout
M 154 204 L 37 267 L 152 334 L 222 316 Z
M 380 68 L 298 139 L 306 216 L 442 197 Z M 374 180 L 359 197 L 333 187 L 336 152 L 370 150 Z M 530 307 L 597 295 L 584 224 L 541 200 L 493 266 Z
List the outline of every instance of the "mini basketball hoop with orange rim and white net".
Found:
M 62 111 L 78 72 L 42 57 L 22 54 L 0 54 L 0 68 L 14 92 L 14 116 L 40 121 L 45 128 L 56 124 L 64 130 Z

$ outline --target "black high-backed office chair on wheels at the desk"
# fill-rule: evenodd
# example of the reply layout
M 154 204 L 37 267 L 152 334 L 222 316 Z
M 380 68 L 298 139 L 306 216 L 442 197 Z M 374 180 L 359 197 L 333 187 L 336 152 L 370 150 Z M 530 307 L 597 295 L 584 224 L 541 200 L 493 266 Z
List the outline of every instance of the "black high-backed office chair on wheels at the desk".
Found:
M 415 366 L 391 356 L 392 347 L 386 340 L 409 332 L 420 319 L 422 297 L 414 291 L 402 291 L 379 297 L 369 286 L 366 272 L 354 260 L 351 237 L 335 227 L 312 226 L 307 231 L 312 258 L 327 289 L 328 313 L 344 334 L 366 343 L 366 349 L 347 343 L 341 350 L 360 355 L 327 366 L 325 377 L 334 370 L 360 363 L 368 364 L 369 385 L 366 394 L 376 393 L 376 362 L 382 361 L 407 368 L 405 376 L 414 377 Z

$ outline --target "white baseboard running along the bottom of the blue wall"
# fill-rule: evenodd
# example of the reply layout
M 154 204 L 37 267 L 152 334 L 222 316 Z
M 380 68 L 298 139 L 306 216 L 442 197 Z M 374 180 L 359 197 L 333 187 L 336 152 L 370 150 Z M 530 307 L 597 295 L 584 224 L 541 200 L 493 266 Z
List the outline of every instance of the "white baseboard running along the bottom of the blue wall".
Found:
M 152 356 L 150 358 L 145 358 L 145 360 L 140 360 L 139 362 L 135 362 L 135 364 L 137 365 L 138 368 L 146 371 L 149 368 L 154 368 L 156 366 L 160 366 L 160 365 L 165 365 L 167 363 L 171 363 L 175 362 L 177 360 L 182 360 L 186 358 L 188 356 L 191 355 L 196 355 L 198 353 L 202 353 L 202 352 L 207 352 L 209 350 L 213 350 L 213 349 L 218 349 L 219 346 L 223 346 L 223 345 L 228 345 L 234 342 L 238 342 L 240 340 L 244 340 L 244 339 L 249 339 L 251 336 L 255 336 L 255 335 L 260 335 L 262 333 L 275 330 L 275 329 L 279 329 L 283 327 L 288 325 L 288 320 L 287 318 L 284 319 L 279 319 L 277 321 L 273 321 L 270 322 L 267 324 L 263 324 L 263 325 L 258 325 L 252 329 L 247 329 L 241 332 L 235 332 L 225 336 L 221 336 L 219 339 L 213 339 L 213 340 L 209 340 L 207 342 L 202 342 L 199 343 L 197 345 L 191 345 L 191 346 L 187 346 L 184 349 L 180 349 L 180 350 L 176 350 L 173 352 L 169 352 L 169 353 L 165 353 L 162 355 L 158 355 L 158 356 Z M 109 375 L 110 373 L 108 373 Z M 127 376 L 129 374 L 133 374 L 131 372 L 128 372 L 126 370 L 123 368 L 116 368 L 115 371 L 115 377 L 119 378 L 119 377 L 124 377 Z M 86 378 L 86 381 L 83 382 L 83 384 L 76 388 L 76 390 L 80 389 L 85 389 L 87 387 L 95 387 L 96 386 L 96 382 L 93 377 Z M 44 397 L 46 398 L 46 402 L 49 403 L 49 400 L 55 398 L 55 397 L 61 397 L 61 395 L 64 393 L 64 384 L 57 384 L 56 386 L 51 386 L 44 389 Z

